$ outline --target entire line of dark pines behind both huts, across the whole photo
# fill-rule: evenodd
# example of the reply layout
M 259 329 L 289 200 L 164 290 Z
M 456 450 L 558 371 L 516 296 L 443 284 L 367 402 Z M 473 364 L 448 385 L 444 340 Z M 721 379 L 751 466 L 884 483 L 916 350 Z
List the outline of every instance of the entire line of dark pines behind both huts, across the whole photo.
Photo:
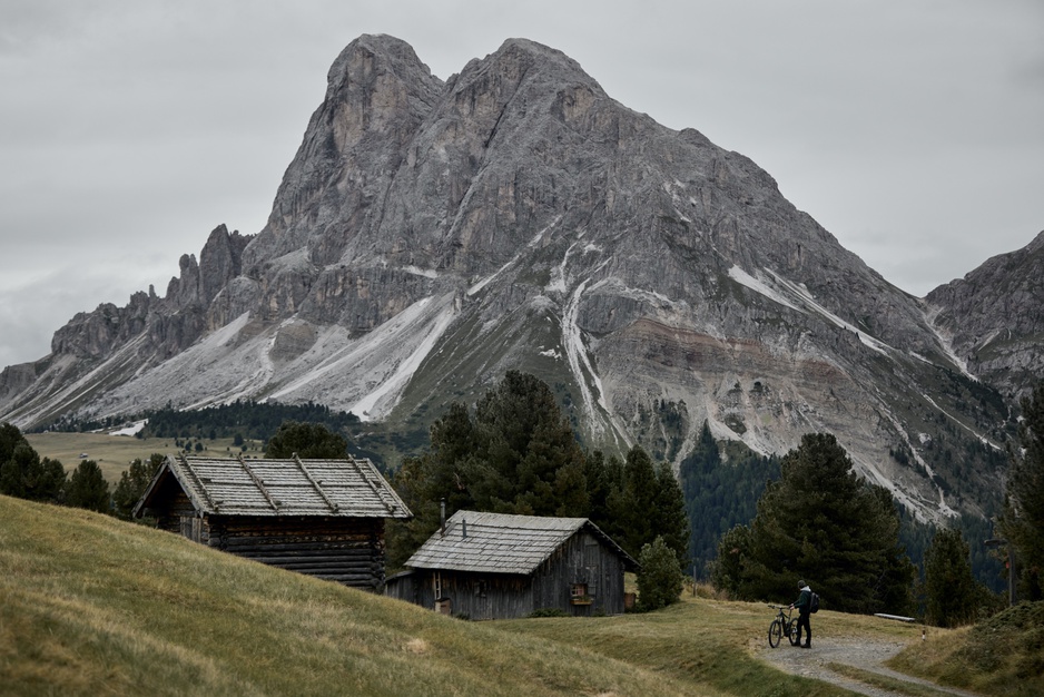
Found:
M 996 522 L 1016 559 L 1021 597 L 1044 600 L 1044 383 L 1023 400 L 1022 412 Z M 623 459 L 583 449 L 548 385 L 512 371 L 474 408 L 451 404 L 430 436 L 429 448 L 391 475 L 415 514 L 388 526 L 393 568 L 439 528 L 444 500 L 447 514 L 472 509 L 589 518 L 650 568 L 662 561 L 647 558 L 657 550 L 668 550 L 672 569 L 697 560 L 718 589 L 738 599 L 788 598 L 800 577 L 815 580 L 825 607 L 836 610 L 917 611 L 952 625 L 997 605 L 974 578 L 976 557 L 966 541 L 982 537 L 985 523 L 962 523 L 964 534 L 958 524 L 930 539 L 918 533 L 918 571 L 892 493 L 858 477 L 830 434 L 806 434 L 781 459 L 737 451 L 723 459 L 705 423 L 676 478 L 669 463 L 640 446 Z M 265 454 L 294 452 L 343 458 L 347 443 L 324 423 L 284 421 Z M 0 493 L 9 495 L 95 510 L 105 499 L 110 511 L 129 517 L 161 462 L 158 454 L 136 461 L 109 497 L 97 463 L 83 461 L 67 477 L 18 429 L 0 426 Z

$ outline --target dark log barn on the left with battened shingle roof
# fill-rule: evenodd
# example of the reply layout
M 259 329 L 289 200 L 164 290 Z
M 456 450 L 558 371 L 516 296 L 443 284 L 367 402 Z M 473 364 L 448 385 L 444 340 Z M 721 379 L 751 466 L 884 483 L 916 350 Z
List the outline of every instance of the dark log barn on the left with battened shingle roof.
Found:
M 411 513 L 365 459 L 168 455 L 135 516 L 239 557 L 378 590 L 385 519 Z

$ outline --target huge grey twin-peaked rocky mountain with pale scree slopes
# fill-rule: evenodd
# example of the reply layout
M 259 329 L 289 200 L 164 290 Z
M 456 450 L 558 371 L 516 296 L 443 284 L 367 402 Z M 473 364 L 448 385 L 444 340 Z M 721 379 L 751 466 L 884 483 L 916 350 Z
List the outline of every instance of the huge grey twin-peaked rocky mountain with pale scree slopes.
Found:
M 618 104 L 560 51 L 511 39 L 443 82 L 363 36 L 264 229 L 219 226 L 162 298 L 73 317 L 0 375 L 0 414 L 253 397 L 423 433 L 518 369 L 591 446 L 677 463 L 705 420 L 760 452 L 829 431 L 918 518 L 983 514 L 1008 408 L 955 354 L 955 307 L 894 287 L 750 159 Z

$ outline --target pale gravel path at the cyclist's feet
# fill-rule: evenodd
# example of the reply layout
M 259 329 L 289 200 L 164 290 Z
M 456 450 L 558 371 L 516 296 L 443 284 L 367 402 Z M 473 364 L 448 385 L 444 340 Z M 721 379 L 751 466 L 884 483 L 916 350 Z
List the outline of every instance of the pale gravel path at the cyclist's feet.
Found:
M 827 665 L 843 664 L 846 666 L 853 666 L 861 670 L 885 675 L 896 680 L 930 687 L 932 689 L 937 690 L 940 695 L 977 697 L 975 693 L 968 693 L 952 687 L 942 687 L 935 683 L 922 680 L 920 678 L 915 678 L 902 673 L 897 673 L 889 668 L 885 668 L 882 664 L 898 654 L 904 646 L 905 644 L 902 641 L 864 640 L 850 637 L 825 637 L 823 639 L 817 638 L 812 642 L 812 648 L 810 649 L 792 647 L 786 638 L 784 638 L 782 644 L 780 644 L 779 647 L 775 649 L 769 648 L 765 639 L 761 639 L 758 644 L 752 642 L 755 655 L 761 660 L 776 666 L 780 670 L 808 678 L 815 678 L 817 680 L 824 680 L 826 683 L 833 683 L 834 685 L 844 687 L 845 689 L 849 689 L 854 693 L 869 695 L 869 697 L 894 697 L 897 695 L 900 697 L 907 696 L 903 693 L 896 693 L 893 690 L 874 687 L 871 685 L 866 685 L 865 683 L 859 683 L 858 680 L 853 680 L 851 678 L 830 670 L 827 668 Z

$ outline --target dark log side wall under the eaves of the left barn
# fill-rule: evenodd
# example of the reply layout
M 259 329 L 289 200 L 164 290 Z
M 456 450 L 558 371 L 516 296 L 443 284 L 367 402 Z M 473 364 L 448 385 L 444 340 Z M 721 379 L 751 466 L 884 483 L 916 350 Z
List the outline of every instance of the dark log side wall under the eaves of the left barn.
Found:
M 210 547 L 345 586 L 384 586 L 383 518 L 214 514 L 208 523 Z

